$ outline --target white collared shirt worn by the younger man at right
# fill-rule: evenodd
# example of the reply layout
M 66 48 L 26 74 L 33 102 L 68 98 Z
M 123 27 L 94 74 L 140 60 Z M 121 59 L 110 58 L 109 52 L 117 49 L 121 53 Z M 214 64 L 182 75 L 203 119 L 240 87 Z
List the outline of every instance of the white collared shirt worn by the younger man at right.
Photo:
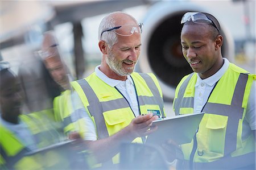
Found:
M 195 85 L 195 97 L 194 97 L 194 105 L 193 109 L 195 113 L 201 112 L 205 103 L 208 101 L 208 97 L 210 92 L 212 91 L 214 85 L 220 78 L 224 75 L 224 73 L 228 70 L 229 61 L 228 59 L 224 59 L 224 64 L 222 67 L 212 76 L 205 78 L 202 80 L 197 73 L 197 80 Z M 251 92 L 248 100 L 247 111 L 245 115 L 246 121 L 243 121 L 243 135 L 245 132 L 251 128 L 251 130 L 256 130 L 256 121 L 255 121 L 255 82 L 251 87 Z

